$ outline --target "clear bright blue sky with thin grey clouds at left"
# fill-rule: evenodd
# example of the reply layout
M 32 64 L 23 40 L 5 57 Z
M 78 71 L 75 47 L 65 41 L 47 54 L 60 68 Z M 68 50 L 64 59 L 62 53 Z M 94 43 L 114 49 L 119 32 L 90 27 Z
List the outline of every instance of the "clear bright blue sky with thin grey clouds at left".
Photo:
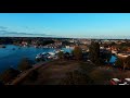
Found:
M 0 13 L 0 36 L 130 38 L 130 13 Z

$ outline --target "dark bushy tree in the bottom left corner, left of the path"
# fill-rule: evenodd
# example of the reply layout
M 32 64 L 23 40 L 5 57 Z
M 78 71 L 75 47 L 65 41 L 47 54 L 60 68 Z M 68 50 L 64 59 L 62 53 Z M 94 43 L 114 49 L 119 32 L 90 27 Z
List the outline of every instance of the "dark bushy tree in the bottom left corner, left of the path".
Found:
M 17 76 L 20 72 L 17 70 L 14 70 L 12 68 L 5 70 L 1 75 L 0 75 L 0 81 L 2 83 L 9 83 L 11 79 L 13 79 L 15 76 Z

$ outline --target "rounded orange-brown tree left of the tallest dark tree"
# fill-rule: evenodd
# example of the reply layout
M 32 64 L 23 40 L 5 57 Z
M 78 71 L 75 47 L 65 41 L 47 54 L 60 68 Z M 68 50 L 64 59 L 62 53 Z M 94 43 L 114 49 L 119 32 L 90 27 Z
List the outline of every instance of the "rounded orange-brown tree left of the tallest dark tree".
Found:
M 76 58 L 76 60 L 81 60 L 82 59 L 82 50 L 80 47 L 75 47 L 74 51 L 73 51 L 74 57 Z

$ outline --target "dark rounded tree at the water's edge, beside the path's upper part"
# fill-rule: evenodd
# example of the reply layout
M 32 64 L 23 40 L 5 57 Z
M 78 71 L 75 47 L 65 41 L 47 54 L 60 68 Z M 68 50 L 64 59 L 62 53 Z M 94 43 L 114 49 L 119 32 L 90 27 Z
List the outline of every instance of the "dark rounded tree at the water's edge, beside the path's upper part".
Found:
M 18 65 L 20 71 L 26 71 L 31 68 L 32 68 L 32 62 L 27 58 L 22 59 Z

